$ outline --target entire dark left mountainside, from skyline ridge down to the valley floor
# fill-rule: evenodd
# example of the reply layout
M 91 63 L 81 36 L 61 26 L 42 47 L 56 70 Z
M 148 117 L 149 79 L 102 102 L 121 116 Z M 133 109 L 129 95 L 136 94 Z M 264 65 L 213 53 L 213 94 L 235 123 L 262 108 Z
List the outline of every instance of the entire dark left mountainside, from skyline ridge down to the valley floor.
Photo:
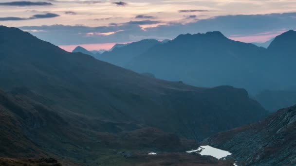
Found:
M 178 152 L 267 116 L 244 89 L 159 80 L 4 26 L 0 89 L 1 157 L 50 155 L 70 165 L 153 163 L 176 155 L 173 162 L 193 161 L 196 156 Z M 162 155 L 147 158 L 151 151 Z

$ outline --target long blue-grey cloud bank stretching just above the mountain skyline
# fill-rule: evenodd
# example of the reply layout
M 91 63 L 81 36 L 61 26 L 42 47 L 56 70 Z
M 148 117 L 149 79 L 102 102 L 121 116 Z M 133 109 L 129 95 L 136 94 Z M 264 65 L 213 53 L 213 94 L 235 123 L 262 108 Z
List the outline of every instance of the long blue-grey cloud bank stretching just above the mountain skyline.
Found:
M 190 15 L 189 15 L 190 16 Z M 11 18 L 12 19 L 12 18 Z M 13 18 L 18 19 L 18 18 Z M 279 31 L 288 31 L 296 27 L 296 13 L 266 14 L 266 15 L 229 15 L 207 19 L 193 18 L 194 22 L 162 22 L 159 20 L 139 20 L 123 23 L 111 23 L 108 26 L 29 26 L 19 27 L 22 30 L 35 30 L 32 32 L 40 39 L 56 45 L 74 45 L 89 43 L 120 43 L 132 42 L 137 39 L 155 38 L 172 39 L 184 33 L 206 33 L 220 31 L 228 37 L 275 36 Z M 143 25 L 161 24 L 157 27 L 142 29 Z M 112 32 L 120 33 L 110 34 Z M 42 32 L 42 33 L 41 33 Z M 99 32 L 101 35 L 86 36 L 87 33 Z M 102 35 L 105 34 L 105 35 Z M 265 36 L 266 36 L 265 35 Z M 252 37 L 254 39 L 254 37 Z

